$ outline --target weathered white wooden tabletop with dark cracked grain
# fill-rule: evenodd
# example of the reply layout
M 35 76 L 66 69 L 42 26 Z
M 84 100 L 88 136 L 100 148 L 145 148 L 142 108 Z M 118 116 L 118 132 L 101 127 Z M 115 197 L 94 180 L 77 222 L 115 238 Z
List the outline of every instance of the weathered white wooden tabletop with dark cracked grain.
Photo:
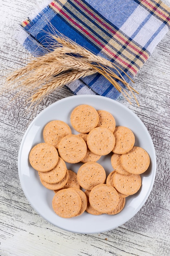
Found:
M 164 1 L 170 6 L 170 0 Z M 15 40 L 18 24 L 42 0 L 0 0 L 0 83 L 26 63 L 29 53 Z M 170 255 L 170 31 L 135 77 L 140 92 L 132 105 L 144 122 L 157 155 L 157 173 L 141 210 L 121 227 L 101 234 L 59 229 L 34 211 L 18 177 L 18 150 L 26 128 L 51 103 L 71 95 L 63 88 L 25 112 L 25 97 L 0 96 L 0 255 L 1 256 L 169 256 Z

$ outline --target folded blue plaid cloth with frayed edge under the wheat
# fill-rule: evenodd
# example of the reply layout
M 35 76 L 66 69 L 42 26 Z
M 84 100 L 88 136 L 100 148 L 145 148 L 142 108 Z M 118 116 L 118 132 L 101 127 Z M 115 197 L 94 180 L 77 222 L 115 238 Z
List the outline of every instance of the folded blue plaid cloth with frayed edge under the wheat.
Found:
M 18 40 L 33 56 L 47 53 L 52 43 L 48 34 L 57 30 L 112 61 L 131 78 L 170 28 L 170 8 L 159 0 L 53 0 L 46 4 L 35 18 L 22 22 Z M 130 82 L 123 72 L 121 75 Z M 119 96 L 98 73 L 67 87 L 74 94 Z

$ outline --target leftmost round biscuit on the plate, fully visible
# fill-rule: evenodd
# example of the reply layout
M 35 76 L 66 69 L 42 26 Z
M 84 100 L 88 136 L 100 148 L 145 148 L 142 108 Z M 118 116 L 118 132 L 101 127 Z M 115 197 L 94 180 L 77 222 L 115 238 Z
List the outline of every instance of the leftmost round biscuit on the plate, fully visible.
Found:
M 58 162 L 57 149 L 48 143 L 39 143 L 31 149 L 29 162 L 36 171 L 50 171 Z

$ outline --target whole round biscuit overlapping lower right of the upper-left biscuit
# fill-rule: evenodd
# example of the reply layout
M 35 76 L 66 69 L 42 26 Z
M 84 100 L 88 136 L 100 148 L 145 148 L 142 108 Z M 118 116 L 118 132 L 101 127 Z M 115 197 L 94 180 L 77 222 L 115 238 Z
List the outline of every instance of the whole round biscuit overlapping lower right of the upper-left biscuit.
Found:
M 67 135 L 60 141 L 58 152 L 65 162 L 71 164 L 78 163 L 82 161 L 86 155 L 86 142 L 77 135 Z

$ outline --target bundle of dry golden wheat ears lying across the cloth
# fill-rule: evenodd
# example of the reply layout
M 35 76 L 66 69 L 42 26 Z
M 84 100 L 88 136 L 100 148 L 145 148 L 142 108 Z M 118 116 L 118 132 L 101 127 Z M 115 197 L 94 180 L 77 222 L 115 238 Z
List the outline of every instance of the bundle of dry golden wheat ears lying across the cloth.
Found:
M 51 37 L 55 40 L 51 52 L 38 58 L 32 58 L 25 67 L 14 71 L 7 78 L 7 87 L 10 88 L 13 83 L 17 83 L 22 90 L 32 90 L 35 93 L 30 96 L 30 100 L 35 102 L 40 101 L 56 88 L 98 72 L 121 92 L 126 99 L 131 98 L 128 92 L 115 79 L 121 81 L 130 90 L 137 102 L 132 92 L 137 91 L 126 82 L 119 71 L 124 72 L 124 70 L 65 36 L 59 34 L 56 36 L 51 35 Z M 113 70 L 116 70 L 118 75 Z M 124 74 L 126 73 L 124 72 Z M 132 81 L 127 74 L 126 76 Z M 128 101 L 130 103 L 129 99 Z

